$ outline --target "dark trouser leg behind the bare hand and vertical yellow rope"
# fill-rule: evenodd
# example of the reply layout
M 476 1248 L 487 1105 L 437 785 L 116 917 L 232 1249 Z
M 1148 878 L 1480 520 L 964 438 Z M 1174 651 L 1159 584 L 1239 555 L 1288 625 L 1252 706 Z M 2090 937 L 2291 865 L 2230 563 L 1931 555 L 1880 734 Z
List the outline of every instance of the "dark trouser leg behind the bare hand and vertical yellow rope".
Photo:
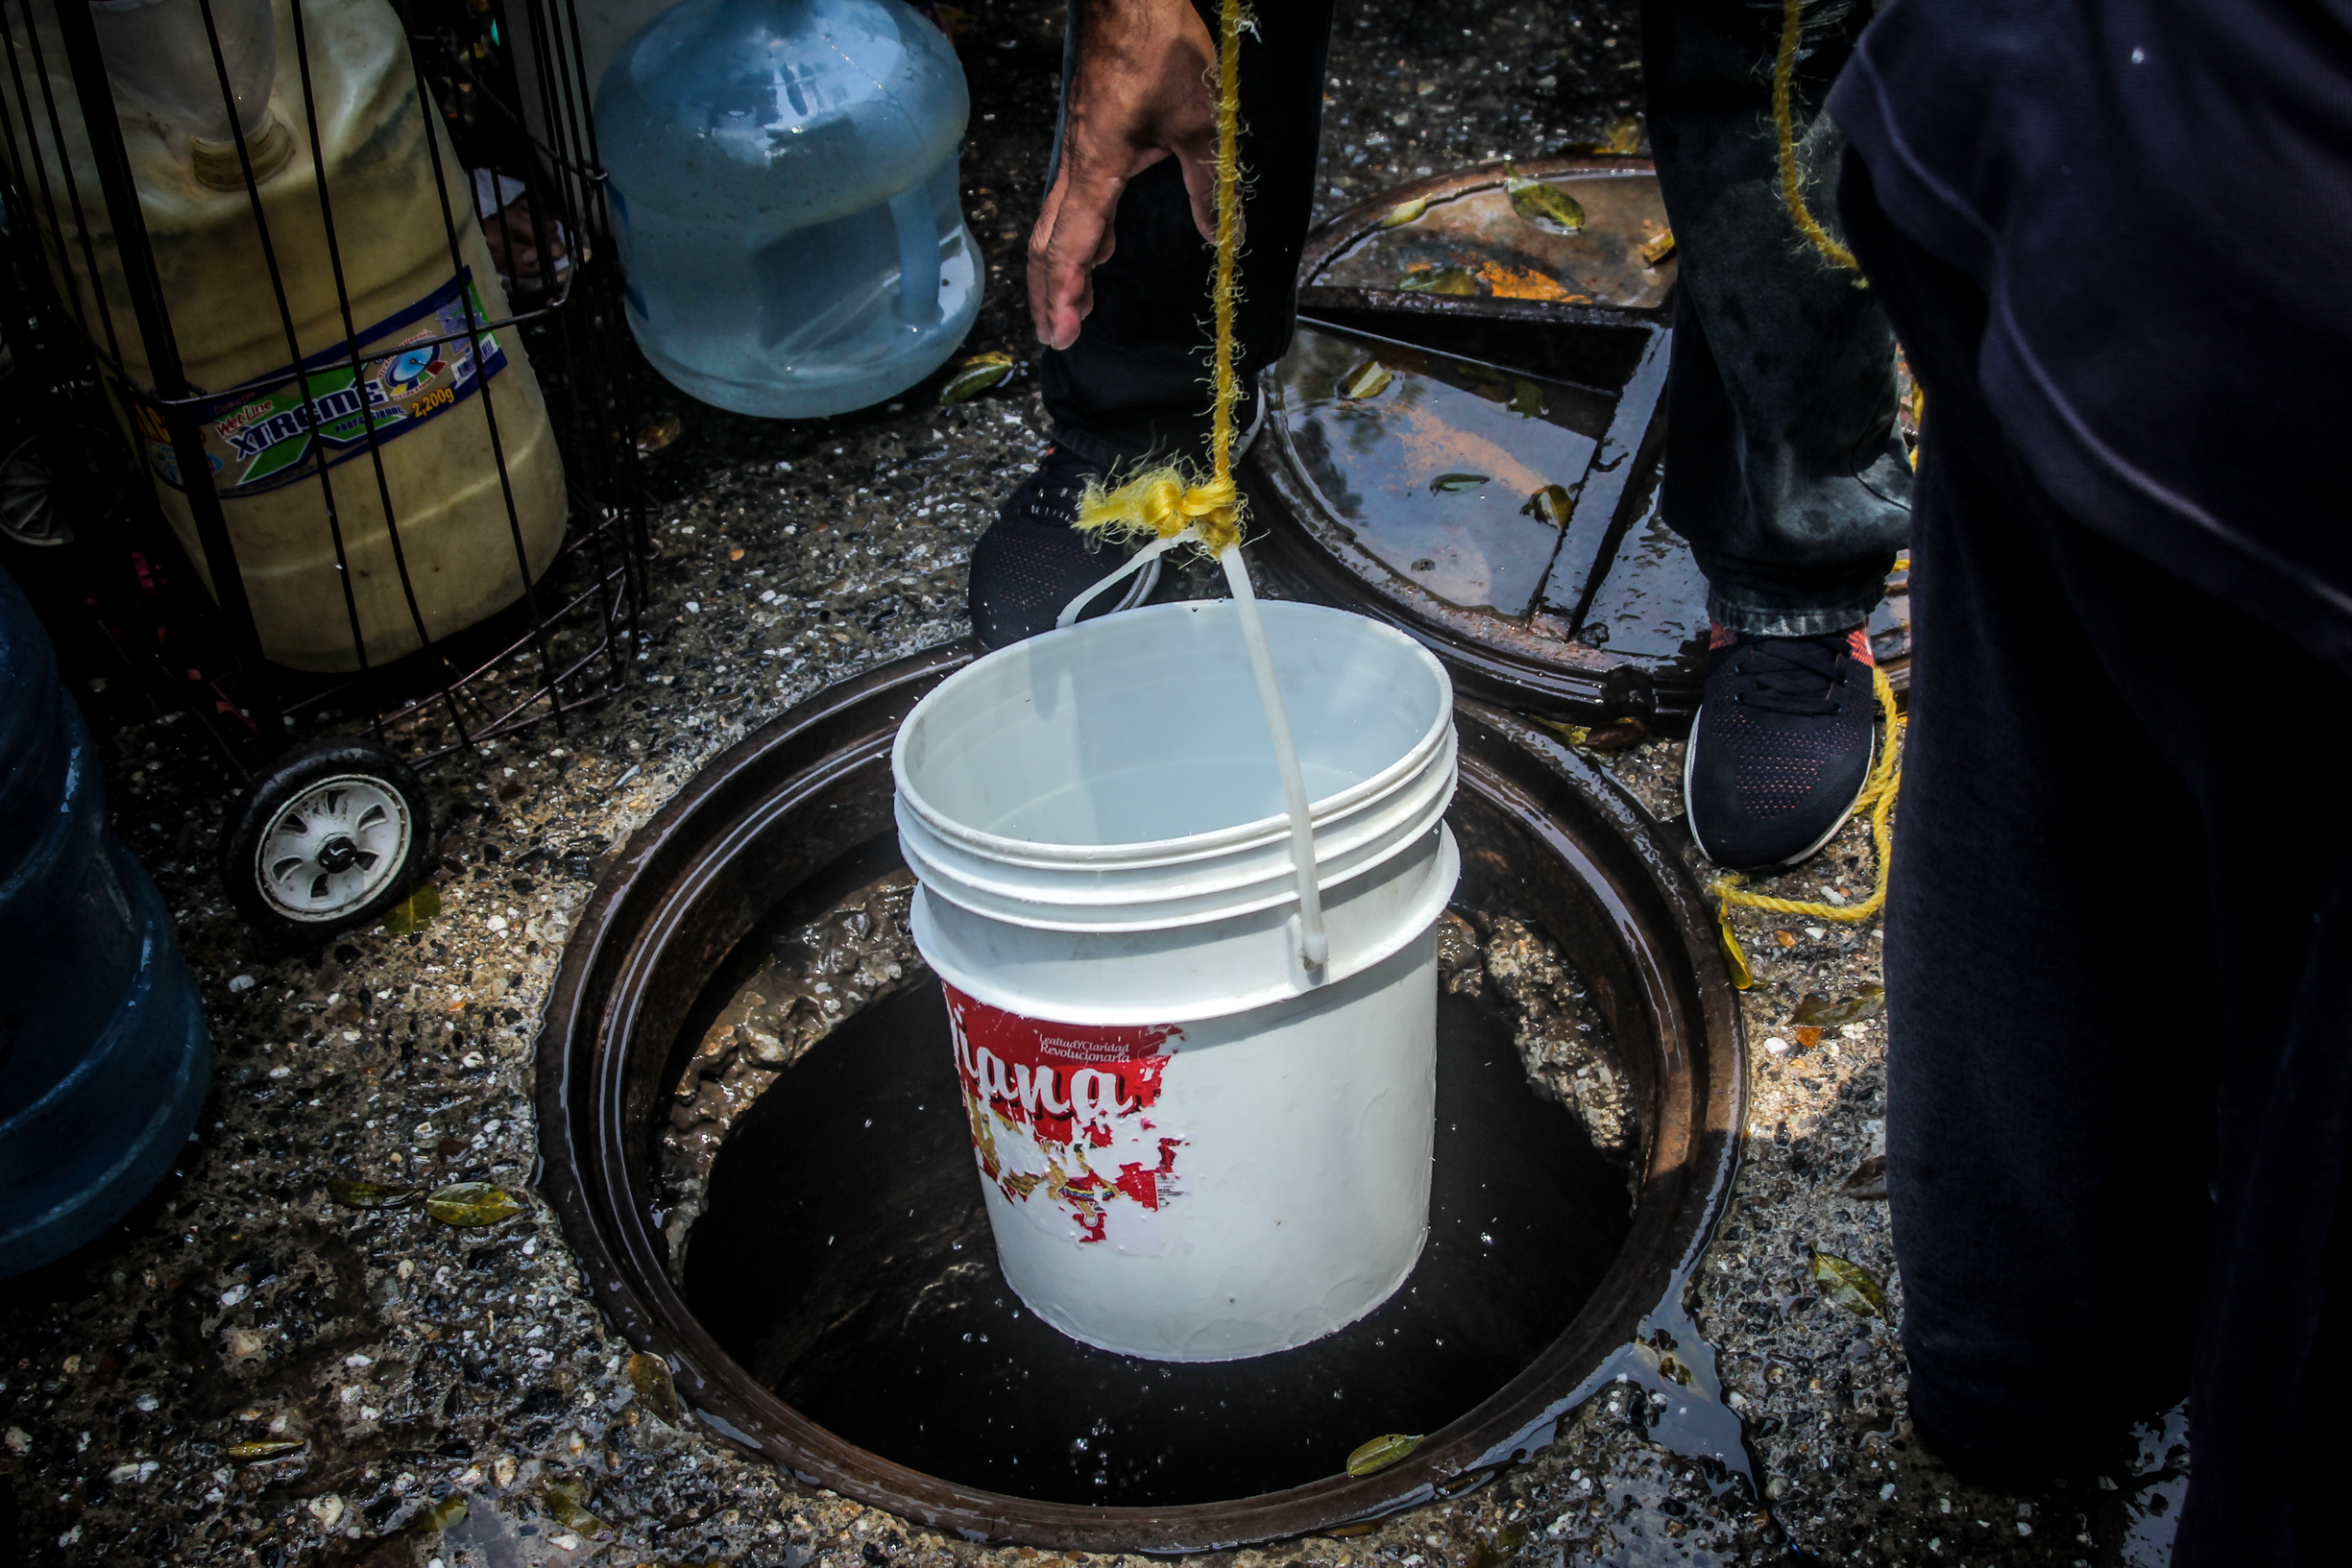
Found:
M 1080 0 L 1070 0 L 1073 38 L 1080 12 Z M 1214 7 L 1207 14 L 1216 35 Z M 1244 390 L 1291 346 L 1298 256 L 1315 212 L 1331 0 L 1268 5 L 1256 16 L 1258 35 L 1242 38 L 1242 172 L 1249 181 L 1242 214 L 1249 228 L 1235 339 Z M 1075 63 L 1075 49 L 1068 59 Z M 1094 315 L 1077 343 L 1040 357 L 1054 440 L 1105 465 L 1143 456 L 1207 461 L 1216 247 L 1192 226 L 1174 158 L 1127 186 L 1115 228 L 1117 247 L 1094 270 Z M 1235 418 L 1247 428 L 1249 407 Z

